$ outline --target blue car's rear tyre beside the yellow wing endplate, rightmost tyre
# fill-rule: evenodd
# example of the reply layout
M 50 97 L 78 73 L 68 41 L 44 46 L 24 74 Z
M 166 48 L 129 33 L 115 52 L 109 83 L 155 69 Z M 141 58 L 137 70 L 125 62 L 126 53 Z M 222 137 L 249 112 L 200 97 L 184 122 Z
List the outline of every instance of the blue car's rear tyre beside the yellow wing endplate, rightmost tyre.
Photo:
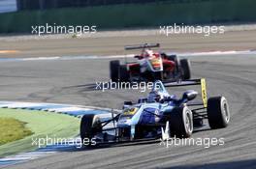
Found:
M 208 99 L 208 125 L 210 128 L 227 127 L 230 121 L 230 111 L 227 99 L 214 97 Z

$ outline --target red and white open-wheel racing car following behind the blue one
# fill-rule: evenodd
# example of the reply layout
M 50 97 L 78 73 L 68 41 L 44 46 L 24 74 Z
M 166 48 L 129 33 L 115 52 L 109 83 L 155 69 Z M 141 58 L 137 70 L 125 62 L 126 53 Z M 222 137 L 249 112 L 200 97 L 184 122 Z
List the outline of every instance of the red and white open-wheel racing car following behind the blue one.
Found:
M 144 43 L 125 46 L 126 50 L 142 49 L 135 55 L 136 62 L 120 64 L 119 60 L 110 62 L 112 81 L 155 81 L 155 80 L 187 80 L 191 77 L 190 62 L 179 59 L 176 55 L 155 52 L 152 47 L 160 47 L 159 43 Z

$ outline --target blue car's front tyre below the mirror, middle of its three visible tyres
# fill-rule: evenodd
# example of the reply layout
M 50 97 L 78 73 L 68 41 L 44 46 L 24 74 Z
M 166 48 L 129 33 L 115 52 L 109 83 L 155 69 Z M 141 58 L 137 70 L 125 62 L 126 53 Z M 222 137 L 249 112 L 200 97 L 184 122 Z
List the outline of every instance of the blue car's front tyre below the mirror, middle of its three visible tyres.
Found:
M 178 138 L 190 137 L 193 132 L 193 116 L 191 110 L 187 106 L 176 107 L 170 115 L 168 121 L 171 136 Z

